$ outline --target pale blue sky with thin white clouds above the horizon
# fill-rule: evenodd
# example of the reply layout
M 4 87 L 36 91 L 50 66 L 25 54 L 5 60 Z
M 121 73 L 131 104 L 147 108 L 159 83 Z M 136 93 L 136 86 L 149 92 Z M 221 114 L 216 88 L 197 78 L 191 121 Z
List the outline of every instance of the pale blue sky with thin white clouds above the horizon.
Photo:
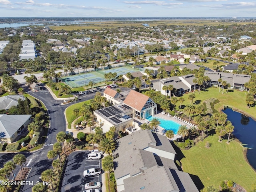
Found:
M 255 0 L 0 0 L 0 17 L 256 17 Z

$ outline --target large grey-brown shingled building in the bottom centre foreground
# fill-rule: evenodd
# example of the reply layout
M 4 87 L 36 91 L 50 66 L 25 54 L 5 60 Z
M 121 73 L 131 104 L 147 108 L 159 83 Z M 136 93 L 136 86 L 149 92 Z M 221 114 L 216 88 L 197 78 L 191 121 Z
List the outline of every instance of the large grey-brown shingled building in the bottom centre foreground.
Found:
M 138 130 L 118 139 L 113 153 L 118 192 L 199 192 L 190 175 L 179 171 L 172 144 L 160 134 Z

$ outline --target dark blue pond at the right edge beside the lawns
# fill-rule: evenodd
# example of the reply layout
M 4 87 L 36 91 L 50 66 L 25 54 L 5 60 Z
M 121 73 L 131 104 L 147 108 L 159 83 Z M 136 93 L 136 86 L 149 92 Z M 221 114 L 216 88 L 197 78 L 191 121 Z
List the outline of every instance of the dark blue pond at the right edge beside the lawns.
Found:
M 246 144 L 245 147 L 251 148 L 247 150 L 246 156 L 250 165 L 256 170 L 256 121 L 231 108 L 225 108 L 222 111 L 227 114 L 228 120 L 234 126 L 234 136 L 242 144 Z

